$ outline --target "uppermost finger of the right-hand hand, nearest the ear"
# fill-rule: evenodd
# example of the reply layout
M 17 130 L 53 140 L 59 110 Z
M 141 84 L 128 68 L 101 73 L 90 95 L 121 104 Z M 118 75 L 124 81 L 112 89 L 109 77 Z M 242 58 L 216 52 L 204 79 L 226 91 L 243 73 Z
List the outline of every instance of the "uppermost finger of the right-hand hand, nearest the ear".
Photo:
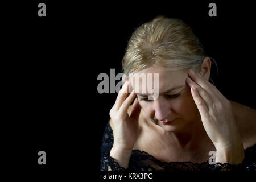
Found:
M 195 72 L 192 73 L 192 72 L 193 72 L 192 69 L 188 72 L 189 77 L 191 77 L 191 79 L 195 81 L 199 86 L 201 86 L 201 88 L 207 91 L 210 96 L 212 96 L 213 98 L 218 98 L 220 100 L 223 99 L 224 96 L 216 88 L 216 86 L 214 86 L 208 80 L 206 80 L 203 76 L 201 76 L 200 73 L 195 73 Z

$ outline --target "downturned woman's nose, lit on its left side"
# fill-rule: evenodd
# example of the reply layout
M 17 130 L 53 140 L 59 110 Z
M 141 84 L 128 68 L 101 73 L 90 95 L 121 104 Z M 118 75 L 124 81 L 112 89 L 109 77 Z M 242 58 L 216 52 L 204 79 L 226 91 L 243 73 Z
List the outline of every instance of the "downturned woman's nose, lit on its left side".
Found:
M 161 98 L 154 100 L 153 107 L 155 110 L 155 118 L 159 121 L 167 119 L 168 116 L 172 113 L 170 109 L 170 103 Z

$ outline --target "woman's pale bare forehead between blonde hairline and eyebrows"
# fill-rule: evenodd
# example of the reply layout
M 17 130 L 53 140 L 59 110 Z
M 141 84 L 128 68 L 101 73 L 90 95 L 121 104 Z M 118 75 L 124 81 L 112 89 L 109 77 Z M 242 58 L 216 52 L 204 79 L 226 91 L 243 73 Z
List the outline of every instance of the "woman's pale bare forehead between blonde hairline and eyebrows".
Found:
M 129 75 L 129 82 L 134 89 L 139 88 L 140 93 L 143 88 L 147 90 L 148 81 L 150 80 L 152 81 L 151 87 L 153 88 L 156 84 L 155 81 L 158 81 L 159 92 L 163 92 L 175 86 L 185 84 L 185 78 L 187 77 L 187 72 L 174 71 L 159 65 L 153 65 L 136 73 L 131 76 Z M 158 74 L 158 79 L 156 79 L 155 74 Z

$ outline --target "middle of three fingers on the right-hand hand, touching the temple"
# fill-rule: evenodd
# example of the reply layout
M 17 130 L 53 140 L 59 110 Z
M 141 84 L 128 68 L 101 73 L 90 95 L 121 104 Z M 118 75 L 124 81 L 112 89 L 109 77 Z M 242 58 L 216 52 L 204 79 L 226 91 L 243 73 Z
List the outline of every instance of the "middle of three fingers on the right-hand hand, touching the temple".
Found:
M 200 97 L 205 101 L 205 105 L 207 105 L 208 109 L 213 105 L 213 99 L 209 96 L 209 94 L 202 89 L 199 85 L 196 84 L 191 78 L 187 77 L 186 82 L 190 88 L 195 87 L 197 93 L 199 93 Z

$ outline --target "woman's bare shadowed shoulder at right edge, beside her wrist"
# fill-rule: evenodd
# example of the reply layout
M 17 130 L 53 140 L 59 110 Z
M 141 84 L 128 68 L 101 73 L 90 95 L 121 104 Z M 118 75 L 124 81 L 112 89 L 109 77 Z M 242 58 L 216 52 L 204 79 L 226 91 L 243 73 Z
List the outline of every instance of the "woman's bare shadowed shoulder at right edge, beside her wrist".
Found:
M 240 131 L 243 146 L 251 147 L 256 143 L 256 110 L 242 105 L 238 102 L 230 101 Z

